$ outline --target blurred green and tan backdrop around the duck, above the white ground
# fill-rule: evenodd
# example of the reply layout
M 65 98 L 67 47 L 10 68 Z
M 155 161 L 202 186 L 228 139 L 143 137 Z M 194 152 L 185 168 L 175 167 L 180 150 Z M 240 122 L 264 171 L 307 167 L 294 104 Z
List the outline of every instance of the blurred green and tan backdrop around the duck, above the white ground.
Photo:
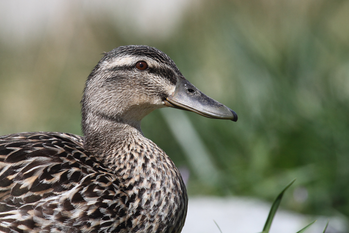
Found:
M 239 116 L 167 108 L 144 118 L 145 136 L 189 174 L 191 196 L 271 201 L 297 178 L 285 208 L 349 216 L 348 0 L 15 0 L 0 9 L 1 134 L 81 135 L 79 101 L 101 53 L 145 44 Z

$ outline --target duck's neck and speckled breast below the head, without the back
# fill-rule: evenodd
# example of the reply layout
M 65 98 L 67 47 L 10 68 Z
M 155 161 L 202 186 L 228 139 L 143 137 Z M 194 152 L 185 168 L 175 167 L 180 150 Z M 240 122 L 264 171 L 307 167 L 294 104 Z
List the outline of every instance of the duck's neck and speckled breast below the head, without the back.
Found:
M 180 232 L 188 204 L 184 182 L 165 152 L 143 136 L 140 122 L 98 118 L 85 123 L 84 147 L 120 181 L 135 232 L 143 222 L 148 230 L 140 232 Z

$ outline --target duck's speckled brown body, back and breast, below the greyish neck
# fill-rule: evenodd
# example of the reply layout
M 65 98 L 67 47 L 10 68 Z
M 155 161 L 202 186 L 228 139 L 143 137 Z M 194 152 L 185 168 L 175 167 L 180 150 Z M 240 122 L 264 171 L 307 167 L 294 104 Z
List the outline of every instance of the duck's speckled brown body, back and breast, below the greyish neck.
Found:
M 0 232 L 181 231 L 185 186 L 159 147 L 144 138 L 103 164 L 82 141 L 66 133 L 0 137 Z

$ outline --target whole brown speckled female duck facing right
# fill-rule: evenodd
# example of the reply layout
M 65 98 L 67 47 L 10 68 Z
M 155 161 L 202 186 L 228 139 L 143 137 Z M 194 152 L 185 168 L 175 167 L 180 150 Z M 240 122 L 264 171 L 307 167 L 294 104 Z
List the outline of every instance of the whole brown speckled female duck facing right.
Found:
M 156 48 L 104 53 L 83 90 L 83 137 L 0 137 L 0 233 L 180 233 L 185 184 L 141 130 L 143 117 L 163 107 L 238 119 Z

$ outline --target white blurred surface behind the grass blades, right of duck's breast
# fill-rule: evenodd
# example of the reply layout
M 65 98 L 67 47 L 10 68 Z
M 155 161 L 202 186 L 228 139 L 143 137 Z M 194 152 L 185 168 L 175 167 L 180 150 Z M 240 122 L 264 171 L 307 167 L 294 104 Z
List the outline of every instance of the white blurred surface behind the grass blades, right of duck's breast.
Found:
M 271 203 L 241 197 L 189 197 L 187 219 L 182 233 L 257 233 L 262 232 Z M 348 232 L 344 217 L 306 216 L 279 209 L 271 224 L 270 233 L 296 233 L 316 220 L 306 232 L 322 233 L 330 219 L 326 233 Z

